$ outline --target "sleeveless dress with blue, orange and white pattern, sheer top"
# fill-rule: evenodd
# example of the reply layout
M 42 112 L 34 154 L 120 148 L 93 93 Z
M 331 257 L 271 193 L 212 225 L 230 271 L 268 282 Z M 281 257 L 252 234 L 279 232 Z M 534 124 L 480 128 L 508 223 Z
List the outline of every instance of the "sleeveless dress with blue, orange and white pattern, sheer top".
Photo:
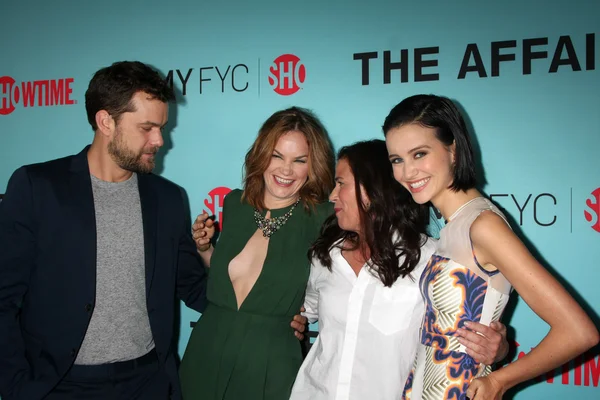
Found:
M 460 207 L 440 231 L 435 253 L 421 275 L 425 300 L 421 343 L 402 399 L 464 399 L 469 383 L 491 367 L 477 363 L 455 337 L 465 321 L 500 319 L 511 285 L 500 271 L 486 271 L 473 252 L 470 227 L 484 211 L 502 212 L 485 197 Z

